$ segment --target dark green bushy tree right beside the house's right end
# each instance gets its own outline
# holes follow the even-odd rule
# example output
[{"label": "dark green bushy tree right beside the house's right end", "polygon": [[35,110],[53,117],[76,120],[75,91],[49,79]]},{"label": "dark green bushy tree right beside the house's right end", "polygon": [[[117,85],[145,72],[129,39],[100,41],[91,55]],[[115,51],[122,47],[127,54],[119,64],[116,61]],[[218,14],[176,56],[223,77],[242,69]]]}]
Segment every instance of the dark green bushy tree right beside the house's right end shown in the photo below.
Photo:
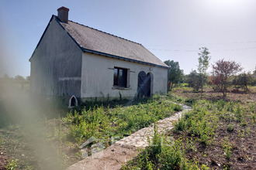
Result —
[{"label": "dark green bushy tree right beside the house's right end", "polygon": [[183,73],[183,70],[179,68],[178,62],[175,62],[174,60],[169,59],[167,61],[164,61],[164,63],[170,66],[168,70],[169,72],[168,80],[171,83],[171,86],[169,87],[169,90],[171,91],[174,84],[180,83],[180,81],[184,76],[184,73]]}]

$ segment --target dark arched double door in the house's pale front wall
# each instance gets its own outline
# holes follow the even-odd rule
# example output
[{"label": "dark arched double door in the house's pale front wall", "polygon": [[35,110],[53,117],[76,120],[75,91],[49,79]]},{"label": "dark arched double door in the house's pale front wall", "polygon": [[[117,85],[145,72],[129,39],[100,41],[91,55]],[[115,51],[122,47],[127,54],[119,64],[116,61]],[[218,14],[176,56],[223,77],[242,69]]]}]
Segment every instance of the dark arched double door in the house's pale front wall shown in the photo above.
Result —
[{"label": "dark arched double door in the house's pale front wall", "polygon": [[138,75],[138,90],[137,97],[150,97],[150,88],[151,87],[151,76],[150,73],[146,73],[144,71],[140,71]]}]

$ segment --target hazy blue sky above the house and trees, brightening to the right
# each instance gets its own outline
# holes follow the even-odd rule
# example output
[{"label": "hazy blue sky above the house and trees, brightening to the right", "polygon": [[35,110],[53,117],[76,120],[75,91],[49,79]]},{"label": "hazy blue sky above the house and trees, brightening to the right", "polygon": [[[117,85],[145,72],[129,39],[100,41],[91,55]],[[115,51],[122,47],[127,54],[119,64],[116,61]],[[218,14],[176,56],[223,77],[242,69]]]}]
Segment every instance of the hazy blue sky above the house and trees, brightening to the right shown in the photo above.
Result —
[{"label": "hazy blue sky above the house and trees, brightening to the right", "polygon": [[29,58],[61,6],[70,20],[139,42],[185,73],[197,68],[202,46],[211,63],[256,66],[255,0],[0,0],[0,76],[29,76]]}]

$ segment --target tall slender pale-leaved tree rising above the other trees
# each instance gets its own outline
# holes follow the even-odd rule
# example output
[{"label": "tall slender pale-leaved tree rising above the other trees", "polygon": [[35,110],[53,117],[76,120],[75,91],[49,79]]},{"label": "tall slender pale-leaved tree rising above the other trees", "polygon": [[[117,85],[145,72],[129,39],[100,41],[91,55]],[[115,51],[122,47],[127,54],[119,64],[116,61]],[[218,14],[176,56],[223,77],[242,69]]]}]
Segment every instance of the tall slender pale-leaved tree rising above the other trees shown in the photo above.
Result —
[{"label": "tall slender pale-leaved tree rising above the other trees", "polygon": [[200,88],[201,88],[201,97],[202,97],[202,89],[204,84],[206,83],[205,77],[206,77],[206,70],[209,68],[209,59],[211,57],[209,56],[209,49],[206,47],[199,48],[200,53],[199,53],[199,66],[198,66],[198,71],[199,71],[199,83],[200,83]]}]

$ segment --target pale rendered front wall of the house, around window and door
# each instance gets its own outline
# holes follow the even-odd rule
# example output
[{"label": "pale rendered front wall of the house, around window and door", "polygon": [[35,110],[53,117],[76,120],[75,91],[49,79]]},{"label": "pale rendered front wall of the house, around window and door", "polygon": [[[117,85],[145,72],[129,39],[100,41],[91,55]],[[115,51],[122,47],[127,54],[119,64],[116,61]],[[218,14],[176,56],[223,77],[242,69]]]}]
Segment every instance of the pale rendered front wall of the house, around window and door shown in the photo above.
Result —
[{"label": "pale rendered front wall of the house, around window and door", "polygon": [[[127,88],[113,87],[114,67],[128,69]],[[94,99],[95,97],[136,97],[138,88],[138,74],[144,71],[151,75],[151,93],[166,93],[168,70],[156,66],[99,56],[92,53],[82,55],[81,97]]]}]

